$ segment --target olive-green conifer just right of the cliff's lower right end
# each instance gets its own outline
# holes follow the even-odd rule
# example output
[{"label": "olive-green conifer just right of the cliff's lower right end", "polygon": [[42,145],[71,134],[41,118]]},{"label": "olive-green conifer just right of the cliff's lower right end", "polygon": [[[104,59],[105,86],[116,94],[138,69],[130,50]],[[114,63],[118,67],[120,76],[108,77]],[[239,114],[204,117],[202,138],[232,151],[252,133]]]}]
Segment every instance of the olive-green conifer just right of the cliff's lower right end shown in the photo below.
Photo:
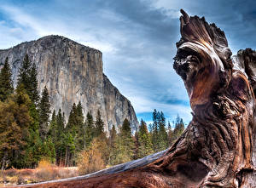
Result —
[{"label": "olive-green conifer just right of the cliff's lower right end", "polygon": [[138,157],[145,157],[154,152],[150,134],[148,133],[147,124],[143,121],[143,119],[141,120],[139,127],[138,143]]}]

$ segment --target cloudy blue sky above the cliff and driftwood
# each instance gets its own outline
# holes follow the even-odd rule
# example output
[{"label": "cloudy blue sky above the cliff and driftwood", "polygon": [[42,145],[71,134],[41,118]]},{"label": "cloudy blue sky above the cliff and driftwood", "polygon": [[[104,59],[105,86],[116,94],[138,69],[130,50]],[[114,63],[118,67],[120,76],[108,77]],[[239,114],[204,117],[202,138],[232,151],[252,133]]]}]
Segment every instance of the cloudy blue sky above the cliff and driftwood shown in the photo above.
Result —
[{"label": "cloudy blue sky above the cliff and driftwood", "polygon": [[150,122],[156,108],[167,121],[178,113],[189,123],[189,99],[172,68],[179,9],[216,23],[233,54],[255,49],[253,0],[6,0],[0,3],[0,48],[57,34],[100,49],[104,73],[131,100],[138,119]]}]

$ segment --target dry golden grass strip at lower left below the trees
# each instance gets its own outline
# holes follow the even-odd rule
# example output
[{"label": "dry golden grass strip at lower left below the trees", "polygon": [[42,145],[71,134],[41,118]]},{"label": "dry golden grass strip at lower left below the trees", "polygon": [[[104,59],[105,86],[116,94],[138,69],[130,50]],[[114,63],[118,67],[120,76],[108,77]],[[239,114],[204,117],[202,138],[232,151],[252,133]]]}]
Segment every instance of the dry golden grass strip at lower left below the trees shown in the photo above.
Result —
[{"label": "dry golden grass strip at lower left below the trees", "polygon": [[0,187],[8,185],[31,184],[51,179],[64,179],[79,175],[78,168],[57,167],[47,160],[38,163],[38,168],[11,168],[0,172]]}]

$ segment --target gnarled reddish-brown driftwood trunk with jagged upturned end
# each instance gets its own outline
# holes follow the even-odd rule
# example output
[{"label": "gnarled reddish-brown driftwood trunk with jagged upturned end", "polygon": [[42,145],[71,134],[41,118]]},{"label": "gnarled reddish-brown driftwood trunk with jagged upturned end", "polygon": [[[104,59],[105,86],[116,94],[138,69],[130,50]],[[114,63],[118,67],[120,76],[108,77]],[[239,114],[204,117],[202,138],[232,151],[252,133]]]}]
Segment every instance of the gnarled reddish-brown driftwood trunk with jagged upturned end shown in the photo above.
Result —
[{"label": "gnarled reddish-brown driftwood trunk with jagged upturned end", "polygon": [[224,31],[181,13],[173,67],[193,119],[176,143],[95,174],[26,187],[256,187],[256,53],[231,58]]}]

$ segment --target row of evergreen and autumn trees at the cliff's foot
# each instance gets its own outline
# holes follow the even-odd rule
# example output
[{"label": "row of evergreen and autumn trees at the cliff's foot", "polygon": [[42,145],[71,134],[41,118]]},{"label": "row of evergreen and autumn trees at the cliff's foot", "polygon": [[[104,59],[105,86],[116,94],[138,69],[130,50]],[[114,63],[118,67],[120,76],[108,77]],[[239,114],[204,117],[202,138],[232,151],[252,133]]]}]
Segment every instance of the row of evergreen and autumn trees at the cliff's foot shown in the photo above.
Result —
[{"label": "row of evergreen and autumn trees at the cliff's foot", "polygon": [[60,166],[79,166],[81,174],[165,150],[184,129],[176,118],[174,129],[162,111],[153,111],[153,123],[141,120],[135,134],[125,119],[119,127],[104,130],[101,111],[96,117],[73,104],[68,121],[65,114],[50,111],[46,87],[38,92],[38,71],[26,54],[14,88],[8,58],[0,71],[0,158],[1,168],[35,168],[47,158]]}]

